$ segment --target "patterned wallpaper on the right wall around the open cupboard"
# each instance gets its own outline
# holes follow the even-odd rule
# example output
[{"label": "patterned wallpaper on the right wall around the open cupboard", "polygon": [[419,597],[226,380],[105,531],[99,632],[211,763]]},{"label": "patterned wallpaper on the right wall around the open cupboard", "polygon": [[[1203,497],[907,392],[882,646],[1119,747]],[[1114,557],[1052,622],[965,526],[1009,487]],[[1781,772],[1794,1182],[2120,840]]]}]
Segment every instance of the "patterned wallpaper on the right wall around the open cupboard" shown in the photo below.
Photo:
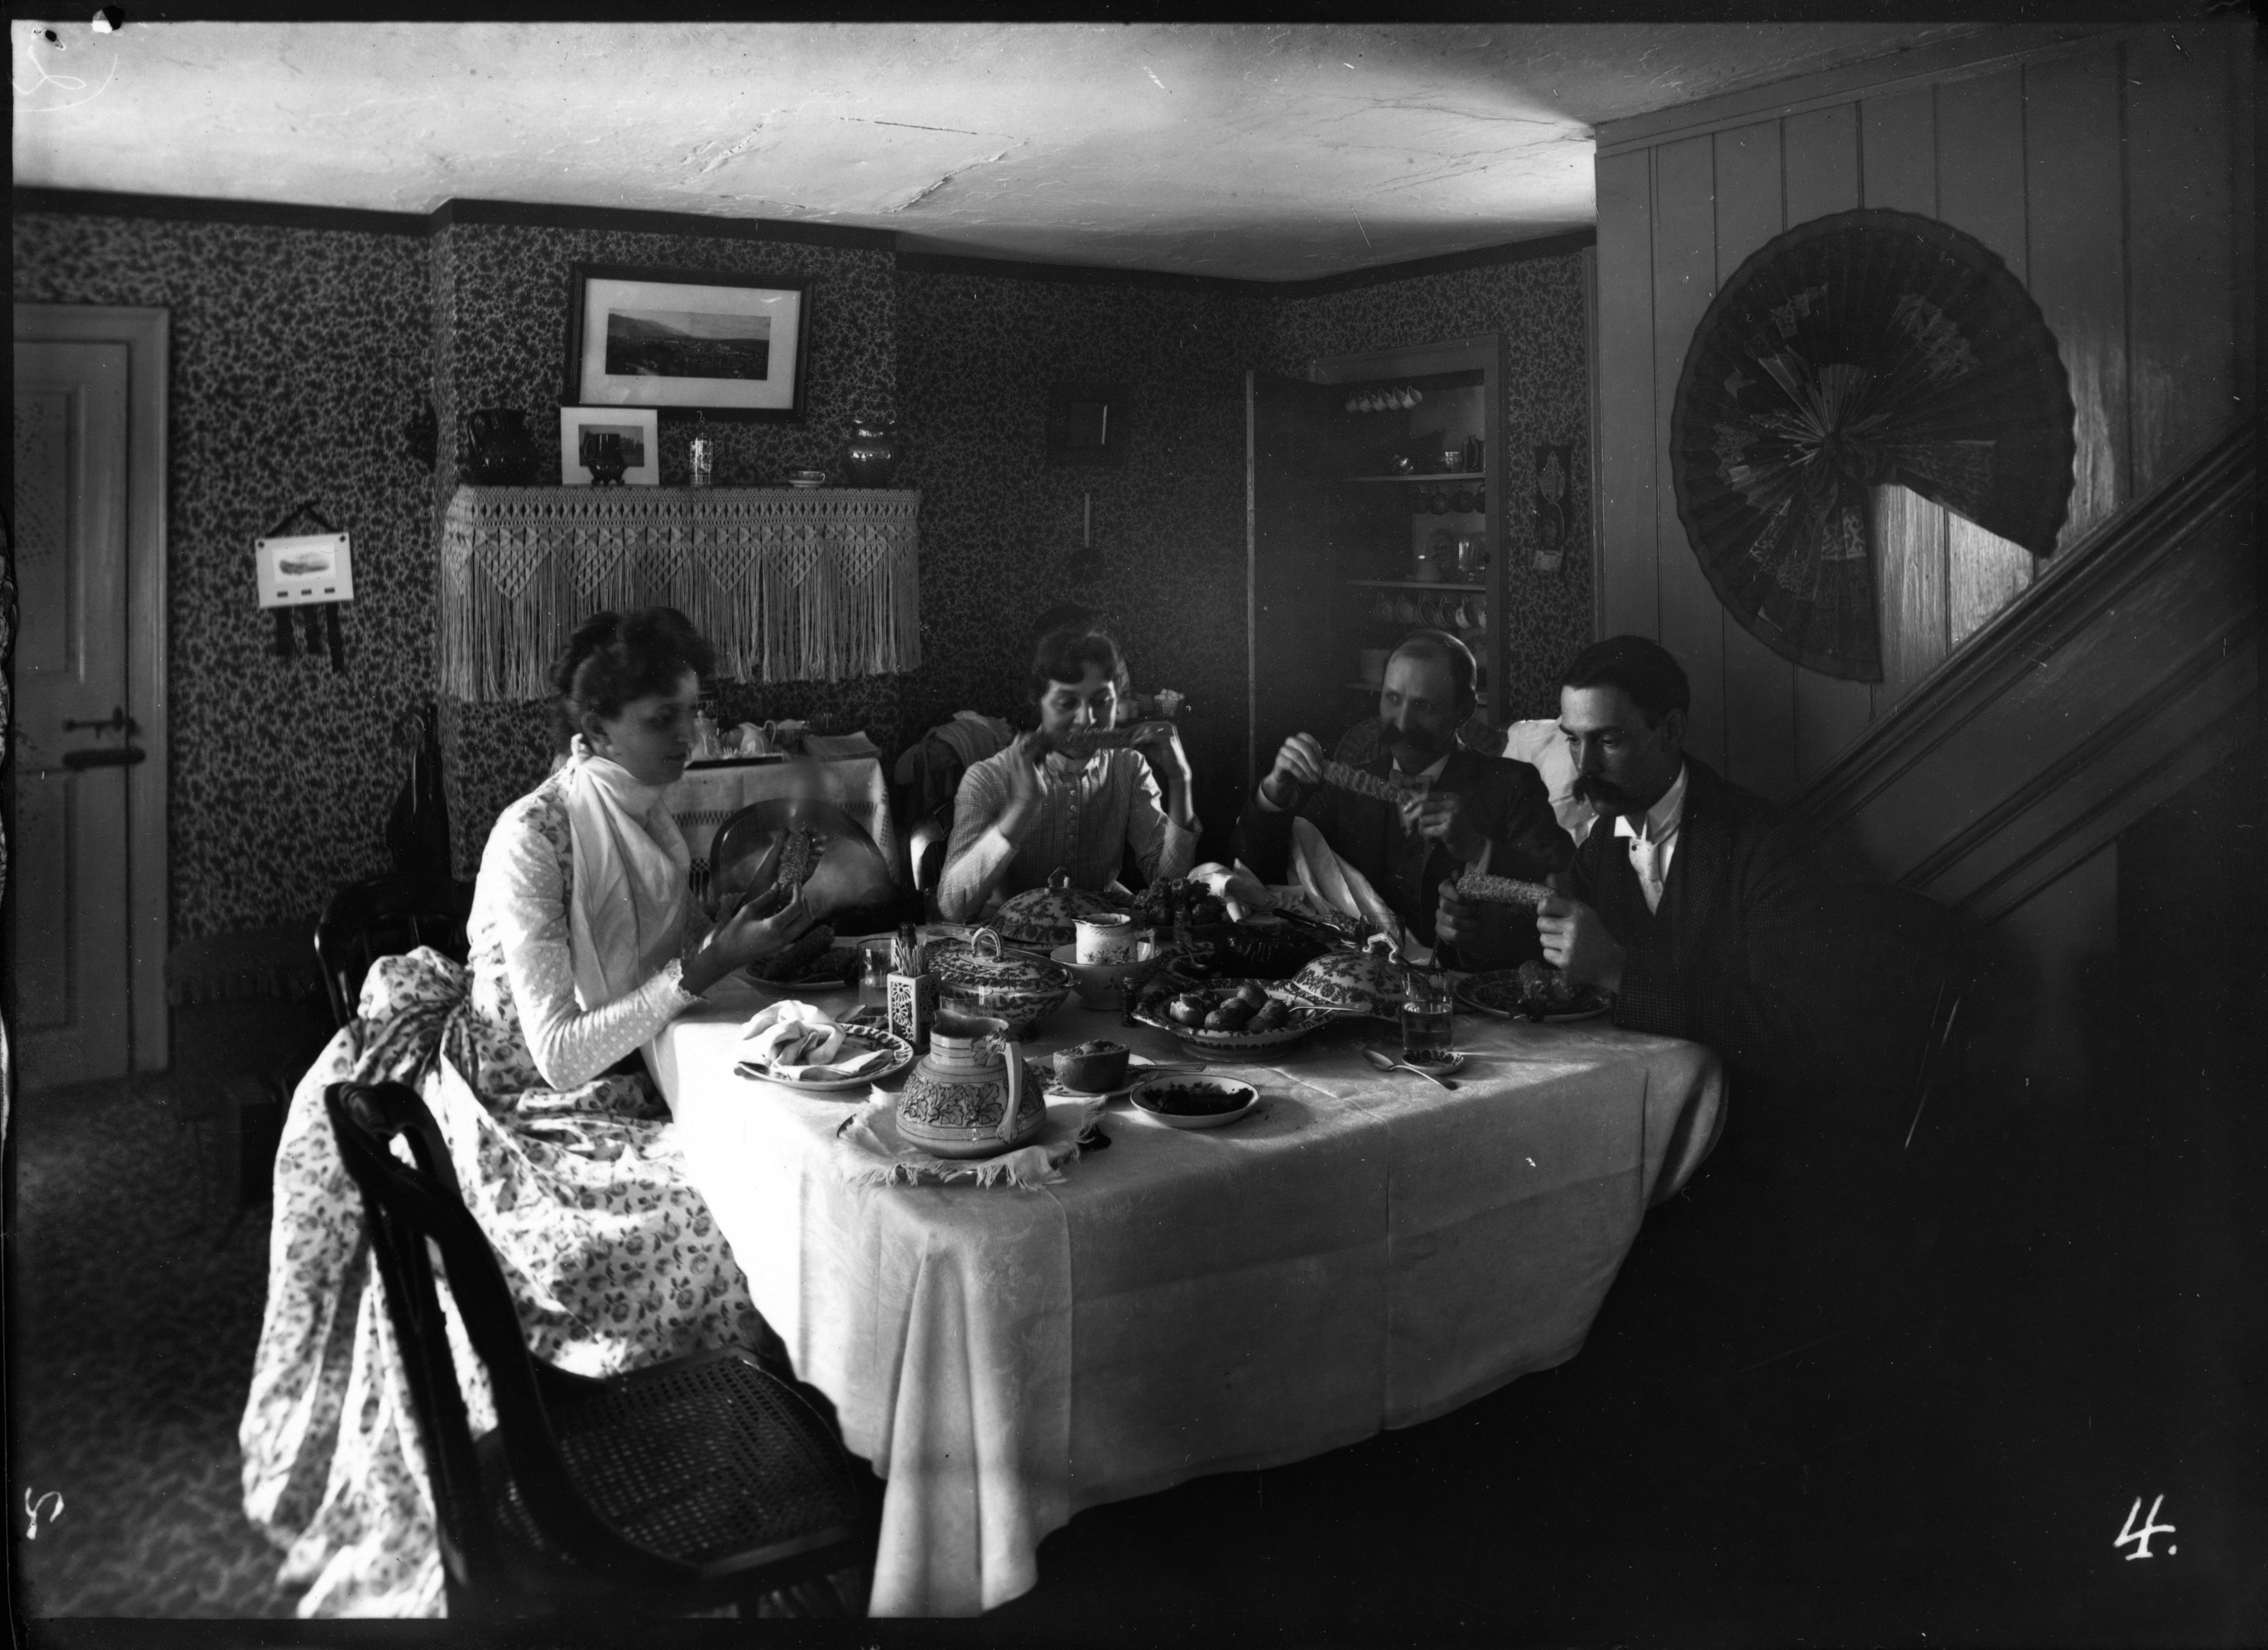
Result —
[{"label": "patterned wallpaper on the right wall around the open cupboard", "polygon": [[[1592,639],[1590,360],[1583,256],[1420,274],[1406,281],[1270,299],[1263,365],[1304,374],[1313,356],[1397,349],[1470,333],[1504,333],[1506,474],[1513,480],[1506,569],[1513,607],[1513,716],[1558,714],[1558,671]],[[1535,446],[1574,444],[1572,528],[1556,573],[1535,567]]]}]

